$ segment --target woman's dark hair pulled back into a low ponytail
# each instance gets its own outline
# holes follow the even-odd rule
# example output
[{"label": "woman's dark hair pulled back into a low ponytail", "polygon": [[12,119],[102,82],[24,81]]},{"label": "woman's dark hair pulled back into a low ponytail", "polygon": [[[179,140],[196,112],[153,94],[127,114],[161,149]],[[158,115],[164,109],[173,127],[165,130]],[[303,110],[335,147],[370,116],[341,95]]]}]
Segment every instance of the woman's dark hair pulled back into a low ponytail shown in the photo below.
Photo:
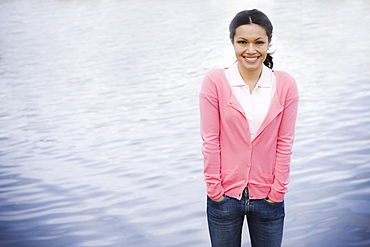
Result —
[{"label": "woman's dark hair pulled back into a low ponytail", "polygon": [[[241,25],[246,24],[257,24],[263,27],[266,30],[267,37],[269,42],[271,42],[272,38],[272,23],[269,18],[261,11],[257,9],[252,10],[243,10],[240,11],[234,19],[230,22],[229,32],[230,32],[230,39],[234,42],[234,36],[236,29]],[[274,63],[272,62],[272,53],[267,53],[266,60],[263,62],[268,68],[272,69]]]}]

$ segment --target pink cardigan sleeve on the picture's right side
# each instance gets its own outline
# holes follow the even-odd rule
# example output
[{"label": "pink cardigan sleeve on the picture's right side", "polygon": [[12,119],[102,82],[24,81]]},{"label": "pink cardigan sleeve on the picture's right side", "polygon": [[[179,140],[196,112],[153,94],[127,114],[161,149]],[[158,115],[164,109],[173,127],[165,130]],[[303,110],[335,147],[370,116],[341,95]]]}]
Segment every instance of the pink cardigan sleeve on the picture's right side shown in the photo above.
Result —
[{"label": "pink cardigan sleeve on the picture's right side", "polygon": [[288,77],[285,83],[289,83],[287,89],[284,110],[280,127],[278,130],[277,146],[276,146],[276,160],[274,171],[274,183],[268,195],[269,199],[275,202],[284,200],[284,195],[287,192],[287,184],[290,176],[290,159],[292,154],[292,147],[294,141],[295,123],[298,111],[298,89],[293,77]]}]

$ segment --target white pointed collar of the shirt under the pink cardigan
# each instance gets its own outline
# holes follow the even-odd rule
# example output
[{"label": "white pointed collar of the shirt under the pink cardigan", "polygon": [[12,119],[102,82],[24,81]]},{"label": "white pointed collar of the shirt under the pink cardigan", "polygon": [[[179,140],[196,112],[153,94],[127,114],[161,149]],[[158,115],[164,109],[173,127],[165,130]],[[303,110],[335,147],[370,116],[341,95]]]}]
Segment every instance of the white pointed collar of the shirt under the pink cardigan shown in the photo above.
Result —
[{"label": "white pointed collar of the shirt under the pink cardigan", "polygon": [[[238,62],[234,63],[229,68],[230,83],[233,87],[245,86],[245,82],[239,73]],[[257,82],[256,87],[269,88],[271,87],[273,72],[267,68],[264,64],[262,65],[262,74]]]}]

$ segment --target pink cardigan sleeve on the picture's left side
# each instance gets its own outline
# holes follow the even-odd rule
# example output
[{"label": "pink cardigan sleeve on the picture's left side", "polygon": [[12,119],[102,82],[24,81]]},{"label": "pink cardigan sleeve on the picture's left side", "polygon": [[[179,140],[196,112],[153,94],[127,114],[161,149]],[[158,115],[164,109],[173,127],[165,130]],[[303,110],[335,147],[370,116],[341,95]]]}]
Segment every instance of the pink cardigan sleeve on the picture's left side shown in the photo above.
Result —
[{"label": "pink cardigan sleeve on the picture's left side", "polygon": [[211,199],[224,194],[220,164],[220,113],[217,86],[210,72],[204,77],[199,97],[200,132],[203,140],[204,179]]}]

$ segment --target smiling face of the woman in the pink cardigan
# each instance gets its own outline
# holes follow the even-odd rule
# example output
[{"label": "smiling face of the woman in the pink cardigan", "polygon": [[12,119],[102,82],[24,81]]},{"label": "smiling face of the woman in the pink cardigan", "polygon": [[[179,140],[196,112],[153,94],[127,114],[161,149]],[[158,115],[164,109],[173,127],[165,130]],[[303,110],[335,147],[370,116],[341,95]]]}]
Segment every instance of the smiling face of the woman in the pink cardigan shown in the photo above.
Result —
[{"label": "smiling face of the woman in the pink cardigan", "polygon": [[266,30],[257,24],[236,28],[233,46],[241,73],[262,70],[270,42]]}]

